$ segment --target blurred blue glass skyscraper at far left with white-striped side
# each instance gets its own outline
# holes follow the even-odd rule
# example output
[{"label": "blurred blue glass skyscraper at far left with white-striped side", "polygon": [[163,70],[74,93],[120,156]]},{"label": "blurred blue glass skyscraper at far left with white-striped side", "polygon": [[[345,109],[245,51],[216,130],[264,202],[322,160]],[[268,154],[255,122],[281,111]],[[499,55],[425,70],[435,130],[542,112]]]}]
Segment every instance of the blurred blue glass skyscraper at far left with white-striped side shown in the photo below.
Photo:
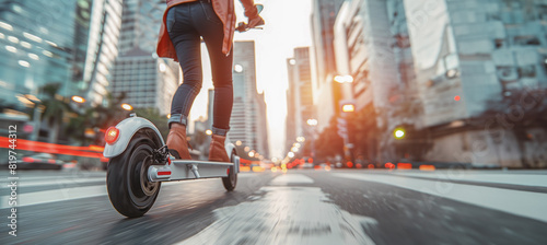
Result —
[{"label": "blurred blue glass skyscraper at far left with white-striped side", "polygon": [[[27,118],[33,114],[37,124],[42,100],[70,103],[79,95],[90,104],[103,103],[117,56],[121,0],[1,0],[0,4],[2,109]],[[48,86],[46,96],[44,89],[53,84],[58,89]],[[67,115],[35,125],[32,138],[47,135],[56,141]]]}]

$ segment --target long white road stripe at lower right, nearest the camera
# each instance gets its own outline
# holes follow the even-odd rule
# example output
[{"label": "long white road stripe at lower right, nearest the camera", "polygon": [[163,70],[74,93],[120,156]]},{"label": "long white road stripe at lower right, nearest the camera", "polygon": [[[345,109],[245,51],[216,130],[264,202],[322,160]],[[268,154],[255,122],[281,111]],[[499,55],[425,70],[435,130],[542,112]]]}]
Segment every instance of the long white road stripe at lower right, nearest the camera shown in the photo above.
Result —
[{"label": "long white road stripe at lower right, nearest the camera", "polygon": [[[375,182],[547,222],[547,194],[373,174],[334,176]],[[426,196],[423,198],[427,198]]]}]

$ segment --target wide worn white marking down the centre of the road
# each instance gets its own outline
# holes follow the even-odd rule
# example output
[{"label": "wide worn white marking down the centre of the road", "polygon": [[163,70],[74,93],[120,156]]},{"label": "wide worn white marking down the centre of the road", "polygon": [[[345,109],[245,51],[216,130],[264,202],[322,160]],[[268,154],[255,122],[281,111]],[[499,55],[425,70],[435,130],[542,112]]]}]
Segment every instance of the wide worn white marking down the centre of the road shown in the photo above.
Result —
[{"label": "wide worn white marking down the centre of the road", "polygon": [[[272,184],[310,183],[304,175],[291,175]],[[363,226],[377,221],[341,210],[321,188],[267,186],[257,194],[214,210],[212,224],[178,244],[374,244]]]}]

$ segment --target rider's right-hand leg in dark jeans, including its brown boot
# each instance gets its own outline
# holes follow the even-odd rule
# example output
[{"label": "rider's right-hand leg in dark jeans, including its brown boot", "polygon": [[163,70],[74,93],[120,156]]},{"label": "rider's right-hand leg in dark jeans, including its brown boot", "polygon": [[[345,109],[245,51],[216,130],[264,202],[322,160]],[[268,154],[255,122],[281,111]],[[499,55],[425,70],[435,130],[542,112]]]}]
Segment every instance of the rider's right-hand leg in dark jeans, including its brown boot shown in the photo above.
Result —
[{"label": "rider's right-hand leg in dark jeans, including its brown boot", "polygon": [[196,15],[199,34],[203,37],[211,59],[212,83],[214,85],[212,140],[209,161],[230,162],[224,150],[224,141],[230,130],[230,116],[233,105],[232,63],[233,52],[222,54],[224,30],[210,3],[200,2],[202,15]]}]

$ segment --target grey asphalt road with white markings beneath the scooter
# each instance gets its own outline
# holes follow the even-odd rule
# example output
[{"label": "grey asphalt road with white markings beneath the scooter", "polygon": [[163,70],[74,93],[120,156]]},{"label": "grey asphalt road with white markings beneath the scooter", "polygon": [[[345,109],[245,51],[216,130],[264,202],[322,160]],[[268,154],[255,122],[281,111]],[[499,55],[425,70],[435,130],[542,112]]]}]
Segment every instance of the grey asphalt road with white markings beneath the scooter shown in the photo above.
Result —
[{"label": "grey asphalt road with white markings beneath the scooter", "polygon": [[18,236],[0,244],[547,244],[547,173],[241,173],[164,184],[142,218],[114,210],[101,172],[19,172]]}]

